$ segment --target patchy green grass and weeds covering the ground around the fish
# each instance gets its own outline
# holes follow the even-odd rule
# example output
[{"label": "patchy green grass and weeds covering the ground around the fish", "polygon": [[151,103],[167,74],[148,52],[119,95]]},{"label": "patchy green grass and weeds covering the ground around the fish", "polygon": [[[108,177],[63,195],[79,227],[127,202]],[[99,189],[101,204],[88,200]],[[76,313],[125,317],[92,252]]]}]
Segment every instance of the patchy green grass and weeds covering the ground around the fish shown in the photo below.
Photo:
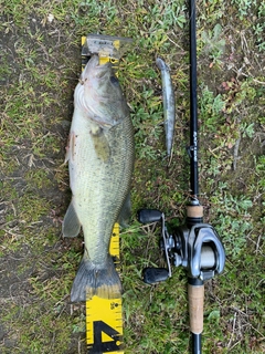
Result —
[{"label": "patchy green grass and weeds covering the ground around the fish", "polygon": [[[198,0],[200,199],[226,250],[205,285],[204,353],[264,353],[264,1]],[[189,35],[183,0],[0,1],[0,352],[85,353],[84,305],[70,304],[82,239],[62,240],[64,160],[81,71],[81,35],[134,39],[119,80],[131,107],[136,162],[131,226],[121,232],[126,353],[189,353],[187,273],[148,287],[162,267],[158,230],[138,208],[181,225],[189,197]],[[177,113],[167,167],[161,55]]]}]

